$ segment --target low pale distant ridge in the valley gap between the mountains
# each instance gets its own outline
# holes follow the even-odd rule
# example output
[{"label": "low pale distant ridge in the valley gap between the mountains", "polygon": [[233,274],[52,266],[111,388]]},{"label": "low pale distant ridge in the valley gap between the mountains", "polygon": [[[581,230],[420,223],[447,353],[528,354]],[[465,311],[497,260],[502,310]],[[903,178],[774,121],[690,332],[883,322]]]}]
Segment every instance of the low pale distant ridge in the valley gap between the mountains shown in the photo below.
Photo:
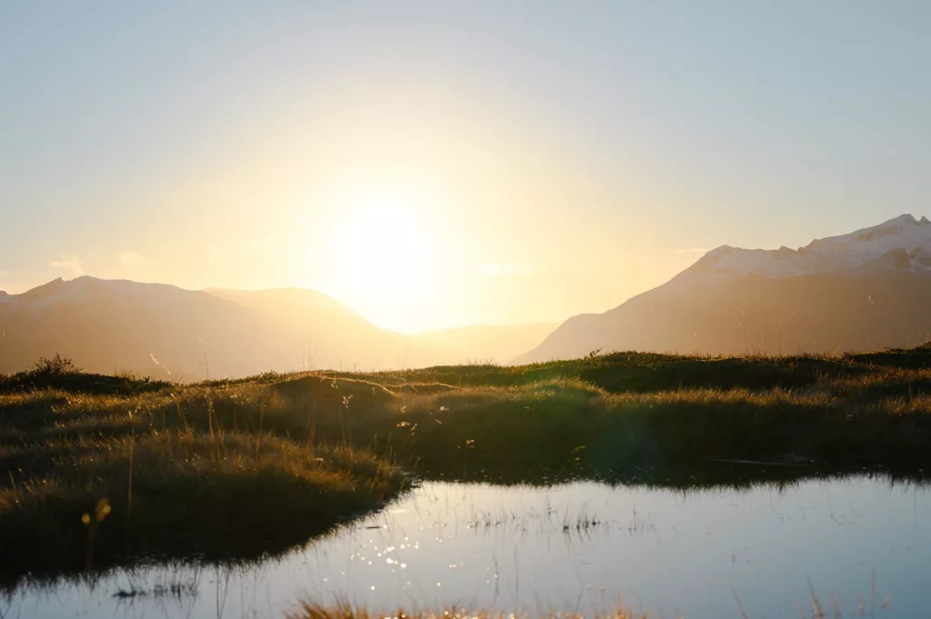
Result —
[{"label": "low pale distant ridge in the valley gap between the mountains", "polygon": [[543,342],[558,325],[548,322],[518,325],[474,325],[427,331],[417,338],[439,344],[454,363],[491,362],[506,364]]}]

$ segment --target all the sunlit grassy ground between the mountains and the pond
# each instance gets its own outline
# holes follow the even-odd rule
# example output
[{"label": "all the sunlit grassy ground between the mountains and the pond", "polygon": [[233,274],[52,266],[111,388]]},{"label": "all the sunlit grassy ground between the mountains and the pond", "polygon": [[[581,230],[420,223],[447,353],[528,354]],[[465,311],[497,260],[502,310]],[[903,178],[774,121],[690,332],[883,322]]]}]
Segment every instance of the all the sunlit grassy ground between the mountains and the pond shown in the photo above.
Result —
[{"label": "all the sunlit grassy ground between the mountains and the pond", "polygon": [[0,578],[283,552],[395,496],[405,477],[390,463],[421,478],[686,488],[920,476],[929,448],[927,347],[190,385],[52,364],[0,377],[0,547],[17,559]]}]

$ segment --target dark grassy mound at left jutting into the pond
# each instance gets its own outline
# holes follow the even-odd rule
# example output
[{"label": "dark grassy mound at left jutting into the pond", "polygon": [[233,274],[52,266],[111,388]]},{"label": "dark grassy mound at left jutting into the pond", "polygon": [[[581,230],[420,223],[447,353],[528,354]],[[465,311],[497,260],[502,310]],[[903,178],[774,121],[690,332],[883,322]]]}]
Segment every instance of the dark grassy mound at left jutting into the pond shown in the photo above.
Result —
[{"label": "dark grassy mound at left jutting into the pond", "polygon": [[368,451],[156,420],[144,401],[0,397],[0,581],[144,558],[275,555],[404,485]]}]

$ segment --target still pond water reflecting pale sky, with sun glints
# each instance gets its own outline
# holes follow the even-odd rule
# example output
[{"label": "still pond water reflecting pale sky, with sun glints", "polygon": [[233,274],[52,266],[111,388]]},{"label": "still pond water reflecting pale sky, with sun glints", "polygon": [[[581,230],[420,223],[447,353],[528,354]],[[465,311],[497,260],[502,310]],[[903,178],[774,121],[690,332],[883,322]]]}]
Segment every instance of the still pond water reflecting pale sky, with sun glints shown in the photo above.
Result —
[{"label": "still pond water reflecting pale sky, with sun glints", "polygon": [[[751,619],[931,609],[931,498],[886,478],[675,491],[428,482],[379,514],[245,568],[153,566],[20,585],[2,617],[281,617],[300,599],[380,609],[578,610]],[[159,592],[159,585],[183,585]],[[136,589],[142,595],[115,597]]]}]

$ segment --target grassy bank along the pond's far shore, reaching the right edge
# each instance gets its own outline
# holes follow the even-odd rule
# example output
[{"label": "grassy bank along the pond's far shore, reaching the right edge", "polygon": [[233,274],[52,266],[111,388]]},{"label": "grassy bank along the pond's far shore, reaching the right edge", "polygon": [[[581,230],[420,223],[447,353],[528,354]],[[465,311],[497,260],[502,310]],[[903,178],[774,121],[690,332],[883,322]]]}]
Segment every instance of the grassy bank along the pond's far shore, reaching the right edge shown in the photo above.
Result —
[{"label": "grassy bank along the pond's far shore, reaching the right edge", "polygon": [[210,388],[270,397],[265,423],[279,433],[401,454],[422,472],[456,477],[499,463],[604,475],[682,460],[912,471],[931,460],[931,347],[845,357],[619,353]]}]

